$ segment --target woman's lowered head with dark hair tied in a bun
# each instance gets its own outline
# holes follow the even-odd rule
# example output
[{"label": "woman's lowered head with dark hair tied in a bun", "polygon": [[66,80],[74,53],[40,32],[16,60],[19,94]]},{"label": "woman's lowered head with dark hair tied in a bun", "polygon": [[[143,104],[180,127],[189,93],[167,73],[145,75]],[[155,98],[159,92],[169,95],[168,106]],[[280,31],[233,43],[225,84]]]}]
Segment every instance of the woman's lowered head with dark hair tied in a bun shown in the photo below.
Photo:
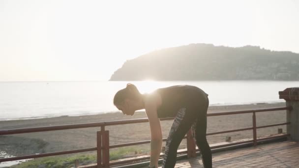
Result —
[{"label": "woman's lowered head with dark hair tied in a bun", "polygon": [[136,110],[139,110],[141,97],[134,84],[127,84],[124,89],[115,94],[113,103],[123,114],[133,115]]}]

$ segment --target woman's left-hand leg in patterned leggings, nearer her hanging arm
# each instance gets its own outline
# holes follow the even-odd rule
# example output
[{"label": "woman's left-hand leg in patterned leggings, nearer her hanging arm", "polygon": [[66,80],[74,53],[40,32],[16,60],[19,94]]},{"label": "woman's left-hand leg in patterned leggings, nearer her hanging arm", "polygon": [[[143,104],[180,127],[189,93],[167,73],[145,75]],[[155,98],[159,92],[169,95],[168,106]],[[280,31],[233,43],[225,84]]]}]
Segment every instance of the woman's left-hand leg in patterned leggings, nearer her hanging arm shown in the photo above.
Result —
[{"label": "woman's left-hand leg in patterned leggings, nearer her hanging arm", "polygon": [[166,141],[165,155],[162,168],[174,168],[177,162],[177,150],[181,140],[184,138],[192,123],[195,122],[191,112],[186,112],[186,108],[182,108],[177,113],[171,126],[169,136]]}]

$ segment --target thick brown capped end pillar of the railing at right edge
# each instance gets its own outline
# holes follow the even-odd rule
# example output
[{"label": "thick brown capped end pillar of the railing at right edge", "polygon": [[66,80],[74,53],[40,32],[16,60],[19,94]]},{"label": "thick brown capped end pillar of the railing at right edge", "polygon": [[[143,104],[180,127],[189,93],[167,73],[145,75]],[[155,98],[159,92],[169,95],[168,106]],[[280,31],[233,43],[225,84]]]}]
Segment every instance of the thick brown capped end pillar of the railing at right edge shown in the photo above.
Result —
[{"label": "thick brown capped end pillar of the railing at right edge", "polygon": [[287,134],[290,134],[290,140],[299,142],[299,87],[286,88],[284,91],[279,91],[279,99],[286,101],[287,107],[292,109],[287,110]]}]

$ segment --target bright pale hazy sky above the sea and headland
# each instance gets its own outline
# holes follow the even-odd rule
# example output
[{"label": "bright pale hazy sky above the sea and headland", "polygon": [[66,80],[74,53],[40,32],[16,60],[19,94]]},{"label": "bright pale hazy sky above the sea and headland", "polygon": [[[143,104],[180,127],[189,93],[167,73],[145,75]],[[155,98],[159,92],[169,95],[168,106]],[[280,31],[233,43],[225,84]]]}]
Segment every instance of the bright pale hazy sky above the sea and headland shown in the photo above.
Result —
[{"label": "bright pale hazy sky above the sea and headland", "polygon": [[151,51],[299,53],[298,0],[0,0],[0,81],[107,81]]}]

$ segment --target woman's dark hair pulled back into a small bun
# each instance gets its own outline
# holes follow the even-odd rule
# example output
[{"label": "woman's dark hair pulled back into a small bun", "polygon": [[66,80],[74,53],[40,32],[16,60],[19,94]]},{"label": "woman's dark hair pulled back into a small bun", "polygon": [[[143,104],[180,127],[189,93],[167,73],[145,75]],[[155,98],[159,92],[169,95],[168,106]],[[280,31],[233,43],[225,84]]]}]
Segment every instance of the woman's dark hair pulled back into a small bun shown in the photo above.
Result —
[{"label": "woman's dark hair pulled back into a small bun", "polygon": [[134,84],[127,84],[126,88],[119,90],[113,99],[114,105],[120,105],[124,99],[138,100],[140,98],[140,92]]}]

